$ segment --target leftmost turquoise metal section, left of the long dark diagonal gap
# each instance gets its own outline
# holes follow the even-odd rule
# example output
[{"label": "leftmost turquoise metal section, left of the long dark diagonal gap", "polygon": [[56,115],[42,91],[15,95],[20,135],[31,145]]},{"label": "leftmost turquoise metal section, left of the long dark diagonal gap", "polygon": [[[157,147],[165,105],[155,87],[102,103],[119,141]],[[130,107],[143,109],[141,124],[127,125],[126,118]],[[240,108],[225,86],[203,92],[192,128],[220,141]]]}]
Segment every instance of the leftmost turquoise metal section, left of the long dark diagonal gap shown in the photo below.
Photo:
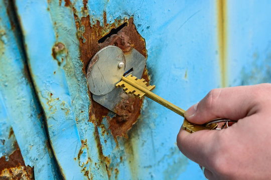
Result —
[{"label": "leftmost turquoise metal section, left of the long dark diagonal gap", "polygon": [[[17,140],[25,164],[35,167],[36,179],[58,179],[56,164],[47,146],[44,116],[25,71],[26,63],[3,0],[0,0],[0,9],[0,138],[2,142],[5,140],[0,144],[0,153],[8,157],[16,149]],[[15,136],[9,137],[11,128]]]}]

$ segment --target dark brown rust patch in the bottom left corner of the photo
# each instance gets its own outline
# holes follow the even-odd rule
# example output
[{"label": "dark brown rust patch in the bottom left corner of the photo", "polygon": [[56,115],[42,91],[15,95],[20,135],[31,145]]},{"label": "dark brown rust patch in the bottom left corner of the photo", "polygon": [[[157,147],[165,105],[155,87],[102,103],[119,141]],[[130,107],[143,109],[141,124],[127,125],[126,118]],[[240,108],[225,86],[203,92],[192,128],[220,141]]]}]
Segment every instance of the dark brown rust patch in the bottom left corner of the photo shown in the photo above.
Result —
[{"label": "dark brown rust patch in the bottom left corner of the photo", "polygon": [[9,155],[9,160],[0,158],[0,179],[34,179],[33,167],[26,166],[20,148],[16,143],[16,150]]}]

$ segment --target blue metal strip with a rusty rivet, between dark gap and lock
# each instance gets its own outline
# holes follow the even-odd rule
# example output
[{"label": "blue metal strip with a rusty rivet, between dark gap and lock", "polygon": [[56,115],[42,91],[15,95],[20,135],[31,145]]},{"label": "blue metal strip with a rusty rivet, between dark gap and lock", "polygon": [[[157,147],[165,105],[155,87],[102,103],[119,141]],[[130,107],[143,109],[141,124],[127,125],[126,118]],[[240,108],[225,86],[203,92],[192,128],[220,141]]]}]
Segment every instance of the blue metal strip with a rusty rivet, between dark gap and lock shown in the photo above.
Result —
[{"label": "blue metal strip with a rusty rivet, between dark gap and lock", "polygon": [[59,6],[53,2],[48,4],[46,0],[16,1],[28,65],[62,176],[65,179],[105,178],[107,174],[103,173],[104,166],[98,158],[93,124],[88,122],[87,83],[82,79],[71,8],[56,5]]}]

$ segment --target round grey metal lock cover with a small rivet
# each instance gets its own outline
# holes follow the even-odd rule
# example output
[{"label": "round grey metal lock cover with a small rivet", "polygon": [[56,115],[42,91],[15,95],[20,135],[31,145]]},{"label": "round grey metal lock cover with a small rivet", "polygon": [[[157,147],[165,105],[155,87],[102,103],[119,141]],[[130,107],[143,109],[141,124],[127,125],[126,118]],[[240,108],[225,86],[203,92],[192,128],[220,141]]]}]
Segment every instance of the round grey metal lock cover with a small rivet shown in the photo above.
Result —
[{"label": "round grey metal lock cover with a small rivet", "polygon": [[115,88],[125,69],[123,51],[114,45],[100,49],[87,67],[89,90],[95,95],[104,95]]}]

